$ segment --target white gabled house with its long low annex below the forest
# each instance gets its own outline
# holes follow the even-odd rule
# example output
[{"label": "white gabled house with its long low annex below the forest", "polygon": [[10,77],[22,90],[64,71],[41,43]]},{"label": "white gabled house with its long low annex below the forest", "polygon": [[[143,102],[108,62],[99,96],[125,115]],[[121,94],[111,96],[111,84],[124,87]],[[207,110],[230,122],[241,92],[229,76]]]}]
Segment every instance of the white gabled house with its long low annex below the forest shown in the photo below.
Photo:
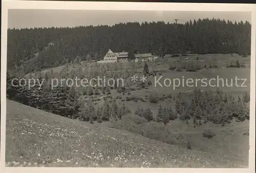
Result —
[{"label": "white gabled house with its long low annex below the forest", "polygon": [[[152,56],[151,53],[148,54],[134,54],[134,61],[153,61],[156,57]],[[111,49],[106,53],[101,63],[113,63],[113,62],[128,62],[128,52],[113,52]]]}]

